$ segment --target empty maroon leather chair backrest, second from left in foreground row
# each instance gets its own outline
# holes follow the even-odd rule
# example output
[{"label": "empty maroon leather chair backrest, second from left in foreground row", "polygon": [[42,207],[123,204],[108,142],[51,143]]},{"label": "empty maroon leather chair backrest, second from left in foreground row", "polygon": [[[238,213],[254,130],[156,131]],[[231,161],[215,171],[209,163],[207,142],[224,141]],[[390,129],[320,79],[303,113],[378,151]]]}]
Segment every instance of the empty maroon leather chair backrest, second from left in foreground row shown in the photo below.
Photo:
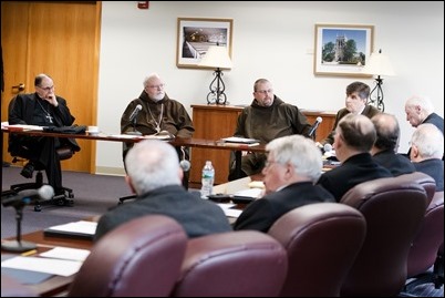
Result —
[{"label": "empty maroon leather chair backrest, second from left in foreground row", "polygon": [[188,242],[173,297],[277,296],[286,278],[284,248],[257,230],[236,230]]}]

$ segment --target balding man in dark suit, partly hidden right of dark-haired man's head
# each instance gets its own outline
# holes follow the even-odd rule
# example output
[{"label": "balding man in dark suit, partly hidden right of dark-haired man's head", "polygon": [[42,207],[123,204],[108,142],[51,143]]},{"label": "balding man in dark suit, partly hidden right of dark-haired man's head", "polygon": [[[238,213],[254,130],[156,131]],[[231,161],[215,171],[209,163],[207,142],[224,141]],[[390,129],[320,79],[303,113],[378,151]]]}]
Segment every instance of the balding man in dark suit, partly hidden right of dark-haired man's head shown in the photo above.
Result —
[{"label": "balding man in dark suit, partly hidden right of dark-haired man's head", "polygon": [[379,113],[371,121],[377,134],[371,148],[372,158],[390,169],[394,176],[415,172],[411,161],[396,152],[401,133],[397,119],[394,115]]}]

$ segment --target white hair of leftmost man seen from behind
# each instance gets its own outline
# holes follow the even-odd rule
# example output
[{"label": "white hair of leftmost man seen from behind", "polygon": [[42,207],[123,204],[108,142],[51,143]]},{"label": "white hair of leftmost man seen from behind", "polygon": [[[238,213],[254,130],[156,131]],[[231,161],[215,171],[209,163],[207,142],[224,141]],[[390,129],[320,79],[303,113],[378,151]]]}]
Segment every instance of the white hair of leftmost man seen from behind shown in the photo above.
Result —
[{"label": "white hair of leftmost man seen from behind", "polygon": [[136,143],[125,156],[125,166],[137,195],[182,184],[178,154],[163,141],[144,140]]}]

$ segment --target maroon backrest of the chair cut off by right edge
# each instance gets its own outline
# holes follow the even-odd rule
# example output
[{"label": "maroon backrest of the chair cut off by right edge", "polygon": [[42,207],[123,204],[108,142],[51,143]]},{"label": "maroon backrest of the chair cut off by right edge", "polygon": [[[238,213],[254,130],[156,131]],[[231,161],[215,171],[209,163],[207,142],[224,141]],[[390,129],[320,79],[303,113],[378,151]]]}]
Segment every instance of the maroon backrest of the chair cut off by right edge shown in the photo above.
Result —
[{"label": "maroon backrest of the chair cut off by right edge", "polygon": [[444,243],[444,192],[437,192],[426,208],[407,259],[407,277],[425,273],[436,260]]}]

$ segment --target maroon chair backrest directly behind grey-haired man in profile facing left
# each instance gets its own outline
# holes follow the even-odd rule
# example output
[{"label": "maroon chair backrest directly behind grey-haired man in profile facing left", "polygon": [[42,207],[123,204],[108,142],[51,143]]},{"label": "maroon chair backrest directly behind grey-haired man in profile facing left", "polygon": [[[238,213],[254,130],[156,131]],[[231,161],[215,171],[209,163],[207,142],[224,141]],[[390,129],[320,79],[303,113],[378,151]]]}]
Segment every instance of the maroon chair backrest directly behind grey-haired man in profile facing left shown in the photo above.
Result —
[{"label": "maroon chair backrest directly behind grey-haired man in profile facing left", "polygon": [[366,234],[363,215],[339,203],[304,205],[269,229],[288,251],[280,296],[337,297]]}]

